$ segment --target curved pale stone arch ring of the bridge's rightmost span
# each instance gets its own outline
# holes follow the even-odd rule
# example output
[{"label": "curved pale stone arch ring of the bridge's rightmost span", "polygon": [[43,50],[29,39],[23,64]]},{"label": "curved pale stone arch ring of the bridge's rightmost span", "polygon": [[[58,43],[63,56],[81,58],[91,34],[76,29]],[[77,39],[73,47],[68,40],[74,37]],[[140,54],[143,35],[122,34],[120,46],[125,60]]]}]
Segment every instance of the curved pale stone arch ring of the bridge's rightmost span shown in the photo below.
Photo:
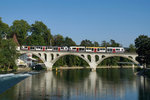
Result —
[{"label": "curved pale stone arch ring of the bridge's rightmost span", "polygon": [[139,62],[137,62],[136,60],[133,59],[132,56],[123,56],[123,55],[109,55],[109,56],[105,56],[102,59],[100,59],[97,64],[100,64],[103,60],[110,58],[110,57],[123,57],[123,58],[127,58],[129,60],[131,60],[132,62],[134,62],[135,64],[139,64]]}]

